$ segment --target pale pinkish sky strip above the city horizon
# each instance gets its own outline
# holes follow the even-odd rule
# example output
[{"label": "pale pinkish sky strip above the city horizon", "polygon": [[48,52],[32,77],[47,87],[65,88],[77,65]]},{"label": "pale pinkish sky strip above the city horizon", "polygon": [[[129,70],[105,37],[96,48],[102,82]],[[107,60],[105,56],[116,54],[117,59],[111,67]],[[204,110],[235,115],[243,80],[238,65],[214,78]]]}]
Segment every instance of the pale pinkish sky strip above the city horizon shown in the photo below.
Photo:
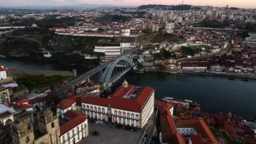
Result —
[{"label": "pale pinkish sky strip above the city horizon", "polygon": [[[147,5],[147,4],[163,4],[178,5],[182,0],[0,0],[0,7],[3,6],[63,6],[76,4],[107,4],[107,5]],[[184,4],[189,5],[211,5],[224,7],[239,8],[256,8],[256,0],[184,0]]]}]

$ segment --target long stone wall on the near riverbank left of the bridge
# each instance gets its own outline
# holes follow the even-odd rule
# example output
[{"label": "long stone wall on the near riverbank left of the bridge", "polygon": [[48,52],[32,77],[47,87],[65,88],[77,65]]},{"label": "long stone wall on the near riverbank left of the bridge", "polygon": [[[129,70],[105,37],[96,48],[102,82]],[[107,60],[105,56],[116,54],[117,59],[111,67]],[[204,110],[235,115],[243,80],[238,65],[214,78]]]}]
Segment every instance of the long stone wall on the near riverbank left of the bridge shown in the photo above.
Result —
[{"label": "long stone wall on the near riverbank left of the bridge", "polygon": [[[53,76],[53,75],[61,75],[61,76],[74,76],[74,71],[53,71],[53,70],[42,70],[42,71],[7,71],[8,76],[19,77],[23,75],[45,75],[45,76]],[[76,74],[75,74],[76,75]]]}]

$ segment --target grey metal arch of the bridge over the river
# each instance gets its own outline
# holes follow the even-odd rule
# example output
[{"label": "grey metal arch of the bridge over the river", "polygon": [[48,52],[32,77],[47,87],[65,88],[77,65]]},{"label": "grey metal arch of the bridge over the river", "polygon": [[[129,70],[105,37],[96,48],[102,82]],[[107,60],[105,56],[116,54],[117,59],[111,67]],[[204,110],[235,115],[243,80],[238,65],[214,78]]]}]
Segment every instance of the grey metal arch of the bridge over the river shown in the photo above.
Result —
[{"label": "grey metal arch of the bridge over the river", "polygon": [[112,64],[110,64],[107,67],[107,69],[104,71],[100,80],[101,83],[105,83],[105,84],[109,83],[112,72],[119,61],[126,61],[131,67],[133,67],[133,62],[127,56],[121,56],[120,58],[113,61]]}]

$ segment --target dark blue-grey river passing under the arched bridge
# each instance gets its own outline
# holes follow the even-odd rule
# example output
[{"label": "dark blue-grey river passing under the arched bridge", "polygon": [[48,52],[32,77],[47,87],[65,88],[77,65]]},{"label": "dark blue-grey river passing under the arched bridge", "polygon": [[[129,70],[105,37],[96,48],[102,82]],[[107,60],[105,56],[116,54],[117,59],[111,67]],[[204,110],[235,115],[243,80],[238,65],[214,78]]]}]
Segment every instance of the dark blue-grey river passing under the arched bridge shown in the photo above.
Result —
[{"label": "dark blue-grey river passing under the arched bridge", "polygon": [[[38,61],[0,58],[0,65],[21,70],[71,70],[55,64],[45,64]],[[87,71],[78,67],[77,73]],[[94,77],[96,79],[96,77]],[[201,105],[204,112],[233,112],[248,119],[256,115],[256,80],[244,82],[240,79],[227,80],[227,77],[200,77],[192,75],[172,75],[166,73],[128,73],[123,79],[128,83],[155,88],[155,98],[170,96],[179,99],[189,99]],[[117,82],[121,83],[122,80]]]}]

